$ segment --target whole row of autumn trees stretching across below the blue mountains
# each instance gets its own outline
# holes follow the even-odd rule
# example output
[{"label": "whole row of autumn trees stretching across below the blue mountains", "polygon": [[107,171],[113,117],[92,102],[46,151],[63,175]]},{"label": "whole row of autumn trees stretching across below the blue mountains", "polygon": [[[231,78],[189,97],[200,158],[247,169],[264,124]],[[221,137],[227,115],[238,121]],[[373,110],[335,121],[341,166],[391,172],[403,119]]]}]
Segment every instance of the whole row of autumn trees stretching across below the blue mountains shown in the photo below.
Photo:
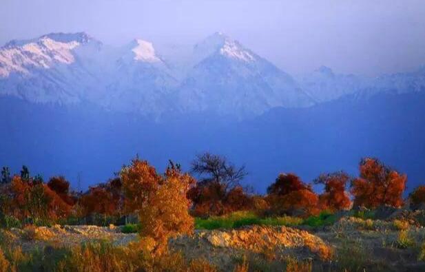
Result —
[{"label": "whole row of autumn trees stretching across below the blue mountains", "polygon": [[[14,227],[56,222],[124,224],[125,219],[136,217],[145,226],[161,224],[160,229],[184,229],[185,224],[193,224],[191,217],[234,211],[306,218],[321,211],[402,207],[406,201],[403,193],[407,176],[376,158],[363,158],[355,177],[338,171],[321,174],[307,183],[296,174],[282,173],[265,195],[242,187],[245,176],[245,167],[236,167],[225,157],[209,153],[196,156],[187,173],[170,161],[160,174],[147,160],[136,157],[115,178],[78,192],[63,176],[44,181],[41,176],[31,176],[28,167],[23,166],[21,173],[13,176],[8,167],[3,167],[0,220],[4,227]],[[315,192],[314,184],[323,185],[323,191]],[[412,206],[424,203],[425,187],[413,190],[408,201]],[[169,222],[169,218],[176,218],[176,212],[178,222]],[[156,233],[152,235],[159,235],[158,228],[153,229]]]}]

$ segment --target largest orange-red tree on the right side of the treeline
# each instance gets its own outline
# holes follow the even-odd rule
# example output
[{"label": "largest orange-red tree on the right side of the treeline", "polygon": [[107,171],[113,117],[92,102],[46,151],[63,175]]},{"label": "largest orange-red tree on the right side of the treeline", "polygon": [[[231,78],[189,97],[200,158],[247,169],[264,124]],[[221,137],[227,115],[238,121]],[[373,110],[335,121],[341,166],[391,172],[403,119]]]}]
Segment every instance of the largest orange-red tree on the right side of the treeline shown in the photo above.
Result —
[{"label": "largest orange-red tree on the right side of the treeline", "polygon": [[381,205],[401,207],[407,176],[375,158],[363,158],[360,176],[351,182],[354,207],[376,208]]}]

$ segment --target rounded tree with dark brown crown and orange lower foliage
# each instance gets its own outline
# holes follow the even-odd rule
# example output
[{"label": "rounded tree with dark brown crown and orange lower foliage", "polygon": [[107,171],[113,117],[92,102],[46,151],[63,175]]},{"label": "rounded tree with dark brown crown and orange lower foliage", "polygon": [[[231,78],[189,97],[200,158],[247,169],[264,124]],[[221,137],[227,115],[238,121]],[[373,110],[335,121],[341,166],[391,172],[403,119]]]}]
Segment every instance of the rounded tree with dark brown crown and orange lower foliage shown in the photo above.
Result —
[{"label": "rounded tree with dark brown crown and orange lower foliage", "polygon": [[296,174],[280,174],[267,193],[272,213],[309,216],[319,212],[318,195]]}]

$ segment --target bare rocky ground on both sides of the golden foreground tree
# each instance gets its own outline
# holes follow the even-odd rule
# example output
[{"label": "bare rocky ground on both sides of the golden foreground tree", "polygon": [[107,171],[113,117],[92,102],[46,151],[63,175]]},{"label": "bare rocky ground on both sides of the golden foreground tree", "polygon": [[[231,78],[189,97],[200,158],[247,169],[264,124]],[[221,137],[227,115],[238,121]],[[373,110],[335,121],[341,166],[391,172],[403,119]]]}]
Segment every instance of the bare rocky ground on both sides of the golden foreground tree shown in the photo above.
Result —
[{"label": "bare rocky ground on both sides of the golden foreground tree", "polygon": [[[342,217],[331,226],[309,229],[249,226],[203,230],[170,240],[169,248],[190,260],[208,260],[220,271],[231,271],[242,262],[249,264],[249,271],[284,271],[291,262],[306,264],[305,271],[343,271],[342,267],[347,271],[425,271],[425,229],[411,223],[406,217]],[[56,225],[2,232],[3,238],[24,251],[98,240],[125,245],[139,239],[137,233],[121,233],[120,227],[114,226]],[[300,270],[295,266],[292,271]]]}]

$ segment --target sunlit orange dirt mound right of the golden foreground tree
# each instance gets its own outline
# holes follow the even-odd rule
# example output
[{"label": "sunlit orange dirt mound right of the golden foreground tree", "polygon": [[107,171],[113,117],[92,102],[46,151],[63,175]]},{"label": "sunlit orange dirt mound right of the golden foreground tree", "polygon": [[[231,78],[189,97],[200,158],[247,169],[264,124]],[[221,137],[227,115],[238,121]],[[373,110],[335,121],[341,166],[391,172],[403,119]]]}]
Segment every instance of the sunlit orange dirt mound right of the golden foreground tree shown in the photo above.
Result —
[{"label": "sunlit orange dirt mound right of the golden foreground tree", "polygon": [[169,241],[169,248],[189,259],[209,260],[222,271],[231,271],[235,258],[256,260],[329,259],[331,248],[321,238],[290,227],[249,226],[233,230],[196,231]]}]

